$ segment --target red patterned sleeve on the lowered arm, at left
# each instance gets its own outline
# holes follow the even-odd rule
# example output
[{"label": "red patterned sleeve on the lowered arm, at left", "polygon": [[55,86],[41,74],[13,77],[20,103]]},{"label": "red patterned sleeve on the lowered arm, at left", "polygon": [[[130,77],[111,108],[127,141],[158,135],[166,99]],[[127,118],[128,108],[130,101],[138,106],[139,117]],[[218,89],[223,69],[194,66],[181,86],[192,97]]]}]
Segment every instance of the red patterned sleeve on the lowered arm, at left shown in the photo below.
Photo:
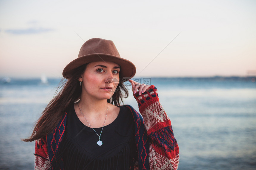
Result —
[{"label": "red patterned sleeve on the lowered arm, at left", "polygon": [[35,170],[49,169],[49,161],[46,137],[35,141]]}]

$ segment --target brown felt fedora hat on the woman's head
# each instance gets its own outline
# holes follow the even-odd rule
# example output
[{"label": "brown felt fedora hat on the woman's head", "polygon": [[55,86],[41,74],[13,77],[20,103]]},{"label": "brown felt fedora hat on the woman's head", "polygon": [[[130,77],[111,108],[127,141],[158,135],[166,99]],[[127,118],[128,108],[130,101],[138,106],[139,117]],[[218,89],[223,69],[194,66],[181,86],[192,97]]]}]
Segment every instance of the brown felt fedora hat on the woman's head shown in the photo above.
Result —
[{"label": "brown felt fedora hat on the woman's head", "polygon": [[[109,61],[120,65],[120,79],[128,80],[136,73],[135,65],[129,60],[120,57],[115,44],[111,40],[93,38],[86,41],[78,54],[77,59],[71,61],[63,70],[63,77],[69,79],[79,66],[95,61]],[[127,78],[124,80],[124,77]]]}]

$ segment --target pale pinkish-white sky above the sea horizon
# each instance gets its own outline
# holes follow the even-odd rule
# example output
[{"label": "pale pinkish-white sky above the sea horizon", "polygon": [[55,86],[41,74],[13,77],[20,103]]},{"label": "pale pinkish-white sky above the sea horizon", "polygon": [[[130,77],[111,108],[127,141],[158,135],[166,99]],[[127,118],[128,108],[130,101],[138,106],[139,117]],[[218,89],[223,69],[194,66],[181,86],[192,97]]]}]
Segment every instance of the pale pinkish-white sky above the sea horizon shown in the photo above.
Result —
[{"label": "pale pinkish-white sky above the sea horizon", "polygon": [[61,77],[91,38],[136,77],[256,75],[256,1],[0,0],[0,77]]}]

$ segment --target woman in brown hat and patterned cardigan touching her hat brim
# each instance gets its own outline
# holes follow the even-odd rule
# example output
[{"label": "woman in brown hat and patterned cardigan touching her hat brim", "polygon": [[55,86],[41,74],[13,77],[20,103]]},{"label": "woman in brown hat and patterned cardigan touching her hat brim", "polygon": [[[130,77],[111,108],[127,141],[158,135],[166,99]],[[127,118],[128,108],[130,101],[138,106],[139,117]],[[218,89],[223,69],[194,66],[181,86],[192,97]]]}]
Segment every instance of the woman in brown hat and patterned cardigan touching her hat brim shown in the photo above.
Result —
[{"label": "woman in brown hat and patterned cardigan touching her hat brim", "polygon": [[[112,41],[86,41],[63,70],[68,79],[63,89],[24,139],[36,140],[35,169],[177,169],[171,121],[157,89],[130,80],[135,72]],[[120,106],[128,96],[127,80],[141,114]]]}]

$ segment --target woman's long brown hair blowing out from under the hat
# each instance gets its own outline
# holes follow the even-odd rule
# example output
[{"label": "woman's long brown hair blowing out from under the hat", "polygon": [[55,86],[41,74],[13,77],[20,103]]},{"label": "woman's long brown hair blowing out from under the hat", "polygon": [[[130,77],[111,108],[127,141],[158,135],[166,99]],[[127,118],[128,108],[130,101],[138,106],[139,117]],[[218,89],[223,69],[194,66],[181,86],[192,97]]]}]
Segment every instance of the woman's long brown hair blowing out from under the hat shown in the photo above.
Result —
[{"label": "woman's long brown hair blowing out from under the hat", "polygon": [[[86,65],[87,64],[78,67],[69,80],[64,80],[63,78],[62,83],[57,88],[57,94],[49,102],[44,109],[42,116],[35,123],[31,136],[27,139],[22,139],[23,141],[32,142],[51,133],[65,112],[67,112],[68,109],[74,105],[74,102],[80,99],[82,88],[80,87],[78,78],[81,77],[82,73],[84,73]],[[123,103],[122,98],[127,98],[128,94],[129,93],[124,87],[120,77],[120,81],[115,93],[110,99],[107,100],[107,102],[120,106],[120,103]]]}]

